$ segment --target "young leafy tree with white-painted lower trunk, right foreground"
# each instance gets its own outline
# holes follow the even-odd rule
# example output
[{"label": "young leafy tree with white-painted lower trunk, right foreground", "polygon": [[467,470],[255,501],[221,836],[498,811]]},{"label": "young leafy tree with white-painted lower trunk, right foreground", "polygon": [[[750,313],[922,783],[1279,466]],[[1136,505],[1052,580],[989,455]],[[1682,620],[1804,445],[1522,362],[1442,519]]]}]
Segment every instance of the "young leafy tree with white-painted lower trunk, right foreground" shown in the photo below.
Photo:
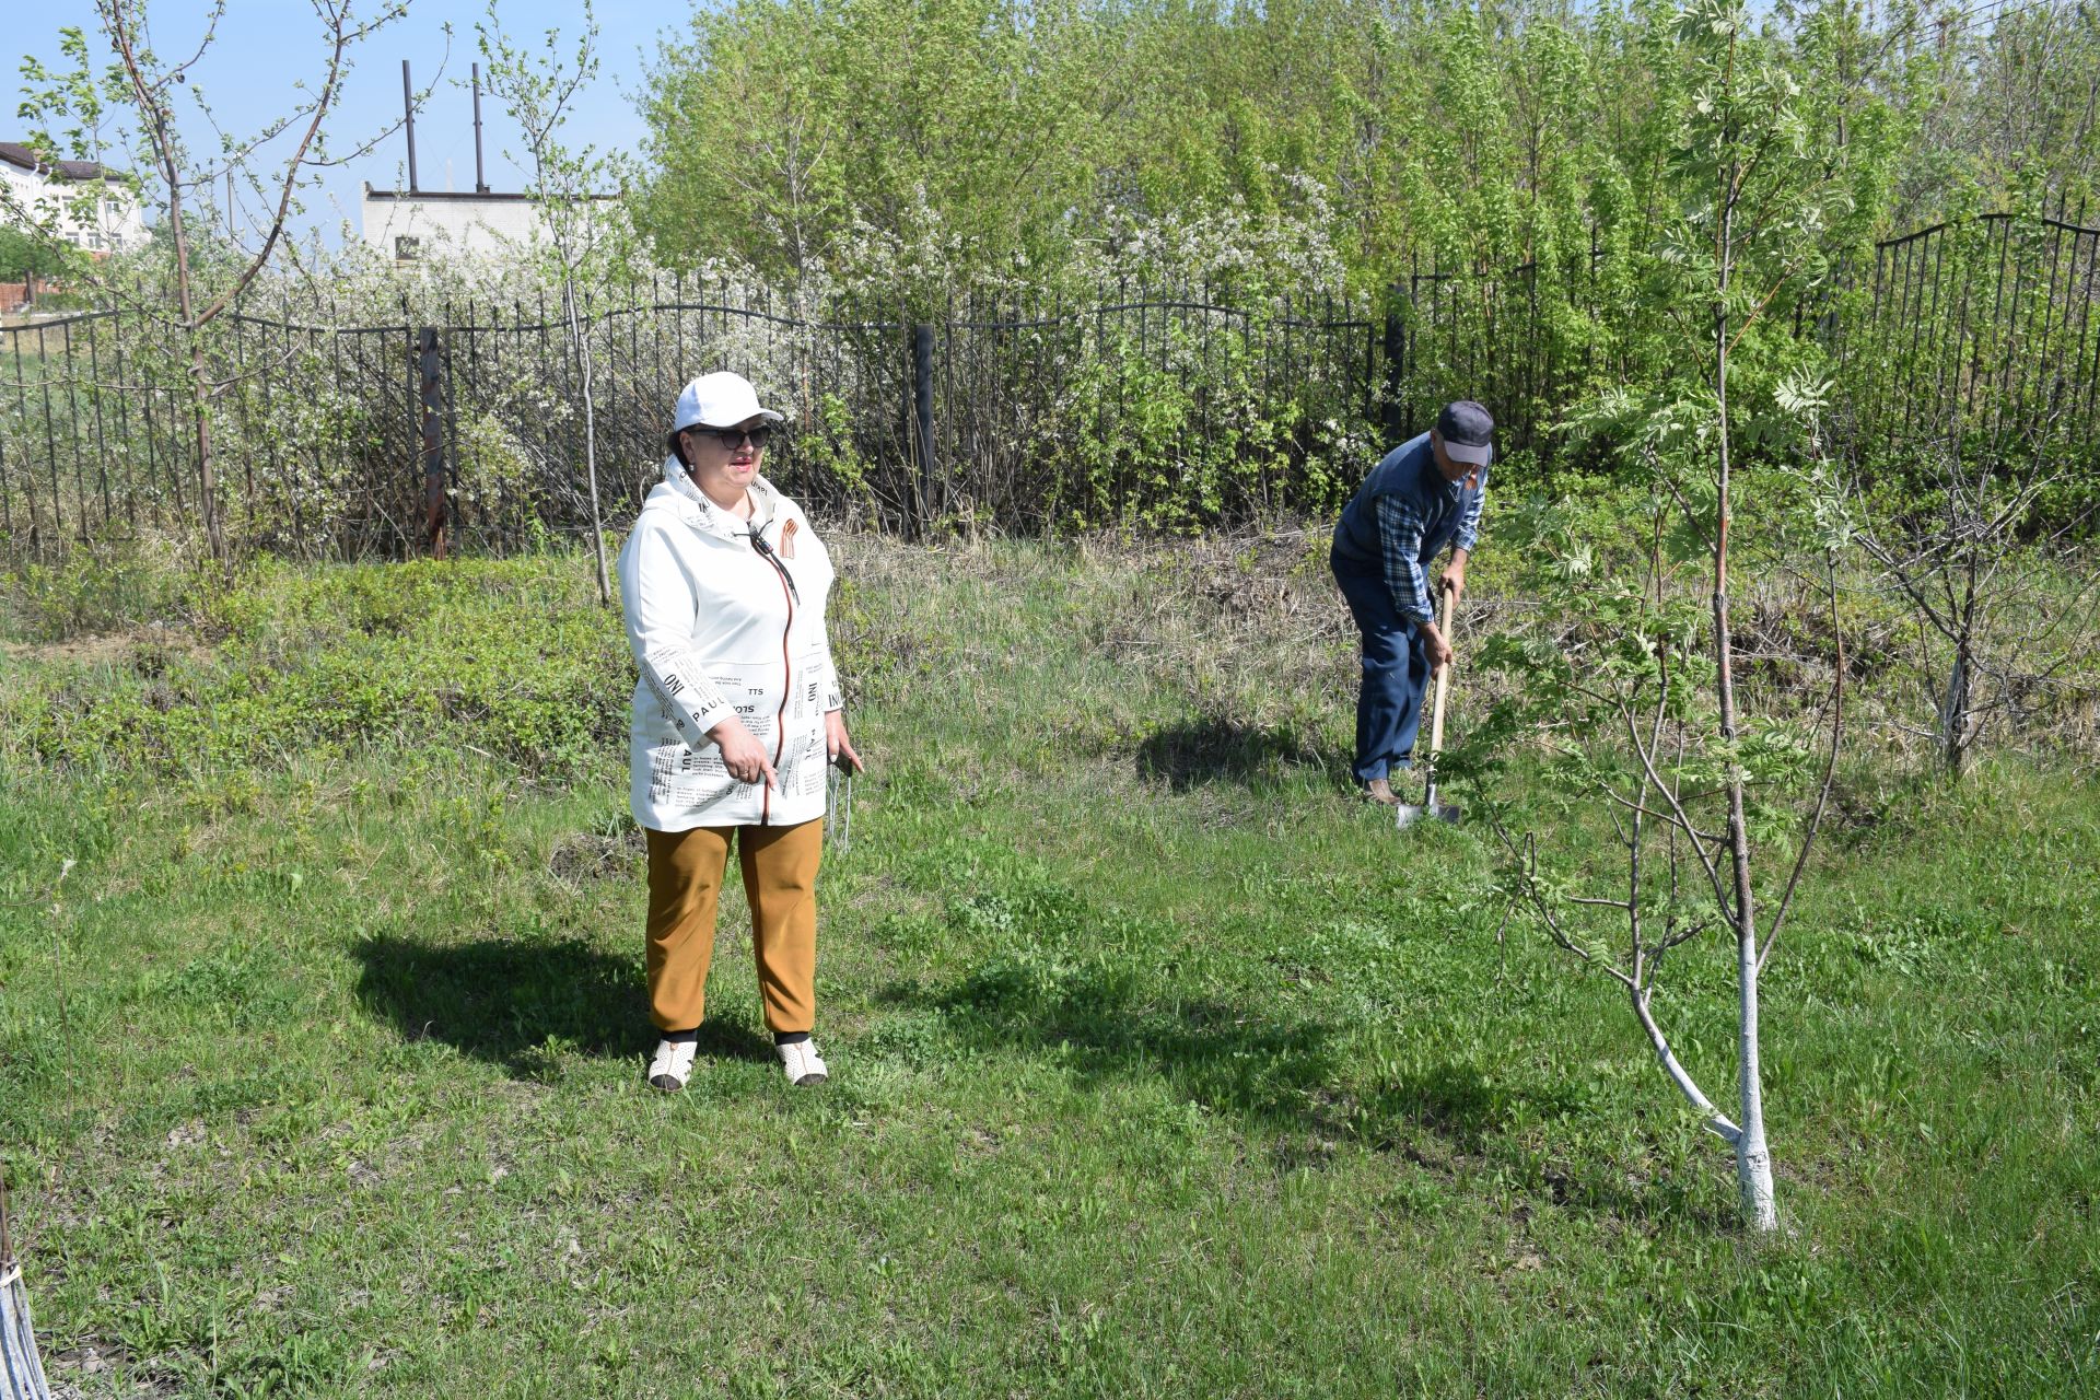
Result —
[{"label": "young leafy tree with white-painted lower trunk, right foreground", "polygon": [[[1529,542],[1508,546],[1531,560],[1554,632],[1483,649],[1485,663],[1522,676],[1520,699],[1483,739],[1544,741],[1548,789],[1562,804],[1558,842],[1518,831],[1514,808],[1497,812],[1512,898],[1560,949],[1628,991],[1661,1068],[1735,1148],[1743,1222],[1764,1232],[1779,1215],[1760,974],[1829,796],[1844,695],[1835,628],[1844,539],[1819,430],[1825,386],[1814,346],[1783,321],[1829,279],[1848,201],[1838,191],[1844,153],[1810,149],[1798,88],[1743,8],[1697,0],[1680,13],[1674,44],[1676,208],[1644,254],[1638,315],[1667,342],[1659,363],[1676,367],[1575,413],[1575,426],[1602,434],[1646,474],[1648,508],[1638,533],[1617,512],[1588,531],[1548,512],[1533,518]],[[1789,516],[1827,527],[1814,542],[1831,621],[1798,623],[1840,653],[1821,707],[1768,697],[1762,714],[1745,709],[1732,596],[1745,441],[1789,468],[1758,485],[1766,535]],[[1783,886],[1770,884],[1772,871]],[[1657,1010],[1659,978],[1678,949],[1714,932],[1735,955],[1732,1115],[1680,1062]]]}]

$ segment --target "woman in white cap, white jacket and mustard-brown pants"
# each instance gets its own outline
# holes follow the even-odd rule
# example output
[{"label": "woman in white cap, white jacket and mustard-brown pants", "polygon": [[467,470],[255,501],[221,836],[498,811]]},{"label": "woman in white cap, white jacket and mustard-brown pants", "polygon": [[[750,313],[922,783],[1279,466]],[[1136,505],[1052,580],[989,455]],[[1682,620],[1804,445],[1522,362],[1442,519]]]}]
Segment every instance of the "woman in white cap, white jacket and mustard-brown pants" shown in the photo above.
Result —
[{"label": "woman in white cap, white jacket and mustard-brown pants", "polygon": [[802,508],[758,474],[775,422],[737,374],[687,384],[664,483],[620,550],[640,667],[630,800],[649,837],[657,1089],[693,1075],[731,842],[775,1049],[798,1085],[827,1075],[811,1039],[825,764],[861,758],[823,630],[832,558]]}]

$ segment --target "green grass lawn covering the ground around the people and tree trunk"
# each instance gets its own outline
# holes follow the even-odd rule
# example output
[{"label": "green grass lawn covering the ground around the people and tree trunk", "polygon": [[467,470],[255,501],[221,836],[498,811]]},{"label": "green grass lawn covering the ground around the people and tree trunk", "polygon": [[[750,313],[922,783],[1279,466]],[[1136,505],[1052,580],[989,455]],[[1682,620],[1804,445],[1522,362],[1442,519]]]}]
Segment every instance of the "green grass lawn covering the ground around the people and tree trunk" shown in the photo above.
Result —
[{"label": "green grass lawn covering the ground around the people and tree trunk", "polygon": [[[821,1091],[771,1060],[735,898],[699,1077],[640,1085],[630,680],[582,563],[265,571],[10,649],[0,894],[78,861],[0,909],[55,1379],[2096,1390],[2068,760],[1846,775],[1766,984],[1789,1232],[1754,1243],[1613,984],[1497,945],[1483,833],[1344,798],[1317,537],[840,565],[872,772],[823,875]],[[1720,1096],[1728,961],[1676,972]]]}]

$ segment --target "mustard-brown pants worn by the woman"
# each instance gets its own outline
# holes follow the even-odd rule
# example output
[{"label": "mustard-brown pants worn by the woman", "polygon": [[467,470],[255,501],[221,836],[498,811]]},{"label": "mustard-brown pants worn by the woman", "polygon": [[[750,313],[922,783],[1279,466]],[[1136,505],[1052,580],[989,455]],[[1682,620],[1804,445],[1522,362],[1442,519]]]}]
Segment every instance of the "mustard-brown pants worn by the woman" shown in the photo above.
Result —
[{"label": "mustard-brown pants worn by the woman", "polygon": [[817,1020],[817,858],[823,819],[794,827],[649,831],[649,1020],[691,1031],[708,1007],[714,903],[729,842],[743,863],[752,951],[766,1028],[808,1031]]}]

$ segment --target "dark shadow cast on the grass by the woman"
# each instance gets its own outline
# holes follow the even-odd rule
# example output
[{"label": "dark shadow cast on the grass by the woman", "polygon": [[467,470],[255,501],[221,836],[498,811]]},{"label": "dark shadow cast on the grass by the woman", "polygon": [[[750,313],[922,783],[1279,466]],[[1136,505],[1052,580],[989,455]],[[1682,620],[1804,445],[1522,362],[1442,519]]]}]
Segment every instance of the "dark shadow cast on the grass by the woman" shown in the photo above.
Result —
[{"label": "dark shadow cast on the grass by the woman", "polygon": [[[533,1077],[548,1047],[586,1056],[645,1056],[655,1045],[638,961],[578,940],[433,945],[365,938],[357,999],[403,1039],[435,1039],[477,1060]],[[769,1041],[710,1020],[701,1056],[771,1060]]]}]

